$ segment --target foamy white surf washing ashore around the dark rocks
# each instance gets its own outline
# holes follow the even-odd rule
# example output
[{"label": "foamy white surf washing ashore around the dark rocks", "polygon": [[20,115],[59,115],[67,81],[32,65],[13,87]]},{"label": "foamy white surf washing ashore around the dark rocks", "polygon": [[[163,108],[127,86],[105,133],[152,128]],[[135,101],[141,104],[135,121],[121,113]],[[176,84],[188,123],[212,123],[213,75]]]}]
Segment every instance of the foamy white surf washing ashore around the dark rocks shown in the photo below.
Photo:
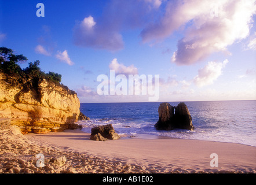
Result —
[{"label": "foamy white surf washing ashore around the dark rocks", "polygon": [[[221,123],[218,125],[205,124],[200,125],[194,123],[195,130],[188,131],[185,129],[174,129],[173,131],[158,131],[155,129],[155,122],[134,120],[134,119],[91,119],[87,121],[79,121],[78,124],[83,126],[82,131],[90,133],[91,128],[97,125],[112,124],[118,134],[136,135],[148,134],[155,136],[168,136],[181,139],[199,139],[211,140],[217,142],[241,143],[244,145],[256,146],[256,138],[250,127],[237,129],[237,125]],[[210,122],[209,122],[210,123]],[[241,125],[239,125],[241,127]],[[251,125],[253,128],[253,125]]]}]

